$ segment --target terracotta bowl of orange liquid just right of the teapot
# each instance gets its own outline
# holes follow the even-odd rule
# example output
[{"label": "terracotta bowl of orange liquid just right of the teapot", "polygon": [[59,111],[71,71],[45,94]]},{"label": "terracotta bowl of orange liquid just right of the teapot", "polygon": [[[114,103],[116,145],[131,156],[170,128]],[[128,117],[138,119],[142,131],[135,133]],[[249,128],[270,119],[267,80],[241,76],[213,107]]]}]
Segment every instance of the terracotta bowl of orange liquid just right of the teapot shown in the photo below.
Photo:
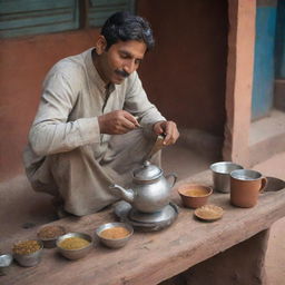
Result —
[{"label": "terracotta bowl of orange liquid just right of the teapot", "polygon": [[213,188],[205,185],[186,184],[181,185],[177,191],[180,195],[185,207],[196,209],[207,204],[208,197],[213,193]]}]

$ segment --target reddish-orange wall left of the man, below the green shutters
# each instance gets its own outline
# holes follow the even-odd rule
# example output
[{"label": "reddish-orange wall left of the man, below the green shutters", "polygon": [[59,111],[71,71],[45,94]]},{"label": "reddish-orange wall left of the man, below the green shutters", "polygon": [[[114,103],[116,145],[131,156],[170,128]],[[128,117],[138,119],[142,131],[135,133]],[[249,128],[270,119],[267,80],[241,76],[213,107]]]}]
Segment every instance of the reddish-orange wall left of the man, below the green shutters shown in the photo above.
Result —
[{"label": "reddish-orange wall left of the man, below the green shutters", "polygon": [[95,35],[90,30],[0,41],[0,179],[23,171],[22,149],[45,75],[59,59],[92,47]]}]

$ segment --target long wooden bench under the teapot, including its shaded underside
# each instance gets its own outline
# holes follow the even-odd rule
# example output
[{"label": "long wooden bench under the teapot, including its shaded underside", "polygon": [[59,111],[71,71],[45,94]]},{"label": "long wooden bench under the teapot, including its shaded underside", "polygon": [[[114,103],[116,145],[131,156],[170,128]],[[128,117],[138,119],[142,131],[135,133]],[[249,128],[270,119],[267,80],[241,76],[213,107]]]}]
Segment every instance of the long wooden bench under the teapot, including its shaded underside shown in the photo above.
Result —
[{"label": "long wooden bench under the teapot, including its shaded underside", "polygon": [[[212,184],[209,171],[179,183]],[[271,188],[272,187],[272,188]],[[194,218],[193,209],[180,207],[176,222],[160,232],[135,232],[120,249],[96,244],[82,259],[71,262],[61,257],[56,248],[43,249],[42,261],[36,267],[13,264],[1,284],[266,284],[264,256],[268,228],[285,216],[285,187],[274,183],[261,195],[253,208],[237,208],[229,204],[229,194],[214,193],[209,203],[222,206],[224,217],[214,223]],[[173,202],[181,206],[177,193]],[[94,234],[95,229],[114,222],[111,207],[94,215],[68,217],[51,224],[65,225],[70,232]],[[27,233],[36,237],[37,228]],[[14,240],[6,242],[7,250]],[[171,279],[169,279],[171,278]],[[168,281],[166,281],[168,279]],[[165,281],[165,282],[164,282]]]}]

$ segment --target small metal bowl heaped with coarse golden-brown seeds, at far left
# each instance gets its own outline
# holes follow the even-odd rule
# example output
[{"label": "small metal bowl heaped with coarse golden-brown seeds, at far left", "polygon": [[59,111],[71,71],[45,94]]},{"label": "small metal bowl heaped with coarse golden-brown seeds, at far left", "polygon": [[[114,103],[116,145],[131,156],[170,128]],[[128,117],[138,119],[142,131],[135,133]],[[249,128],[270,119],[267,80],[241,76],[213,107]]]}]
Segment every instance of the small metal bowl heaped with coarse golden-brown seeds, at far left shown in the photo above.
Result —
[{"label": "small metal bowl heaped with coarse golden-brown seeds, at far left", "polygon": [[13,258],[26,267],[36,266],[41,261],[43,245],[40,240],[23,240],[13,245]]}]

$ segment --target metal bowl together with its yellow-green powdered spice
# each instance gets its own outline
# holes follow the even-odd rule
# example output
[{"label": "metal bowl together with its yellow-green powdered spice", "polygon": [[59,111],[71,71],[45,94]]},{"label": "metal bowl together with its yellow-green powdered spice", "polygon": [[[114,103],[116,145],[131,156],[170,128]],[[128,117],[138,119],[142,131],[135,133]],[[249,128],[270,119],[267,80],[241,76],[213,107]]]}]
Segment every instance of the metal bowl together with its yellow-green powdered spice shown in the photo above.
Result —
[{"label": "metal bowl together with its yellow-green powdered spice", "polygon": [[57,248],[66,258],[79,259],[92,248],[92,237],[83,233],[68,233],[57,239]]}]

